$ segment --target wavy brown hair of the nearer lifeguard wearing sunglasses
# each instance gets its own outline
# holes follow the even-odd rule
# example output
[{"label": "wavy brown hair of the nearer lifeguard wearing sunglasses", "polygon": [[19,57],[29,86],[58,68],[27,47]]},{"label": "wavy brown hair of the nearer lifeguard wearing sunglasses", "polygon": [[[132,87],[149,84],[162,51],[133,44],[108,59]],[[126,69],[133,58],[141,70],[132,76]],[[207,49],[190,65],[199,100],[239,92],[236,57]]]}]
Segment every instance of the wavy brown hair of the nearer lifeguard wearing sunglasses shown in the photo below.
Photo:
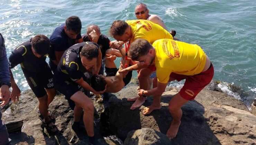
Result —
[{"label": "wavy brown hair of the nearer lifeguard wearing sunglasses", "polygon": [[128,57],[132,60],[138,60],[139,57],[147,54],[150,48],[153,46],[145,39],[136,39],[131,43],[128,50]]}]

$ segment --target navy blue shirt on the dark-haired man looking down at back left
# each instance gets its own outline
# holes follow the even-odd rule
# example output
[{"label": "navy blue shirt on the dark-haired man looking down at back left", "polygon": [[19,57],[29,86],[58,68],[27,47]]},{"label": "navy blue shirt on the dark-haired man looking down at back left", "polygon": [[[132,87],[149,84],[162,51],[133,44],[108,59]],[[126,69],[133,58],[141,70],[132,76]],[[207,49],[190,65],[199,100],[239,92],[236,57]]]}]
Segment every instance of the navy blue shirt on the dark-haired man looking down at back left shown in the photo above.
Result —
[{"label": "navy blue shirt on the dark-haired man looking down at back left", "polygon": [[56,60],[54,51],[65,51],[69,47],[75,44],[76,40],[79,40],[82,38],[81,33],[76,36],[76,39],[70,39],[64,30],[65,23],[63,23],[61,26],[57,27],[51,37],[51,52],[49,54],[49,57],[52,60]]}]

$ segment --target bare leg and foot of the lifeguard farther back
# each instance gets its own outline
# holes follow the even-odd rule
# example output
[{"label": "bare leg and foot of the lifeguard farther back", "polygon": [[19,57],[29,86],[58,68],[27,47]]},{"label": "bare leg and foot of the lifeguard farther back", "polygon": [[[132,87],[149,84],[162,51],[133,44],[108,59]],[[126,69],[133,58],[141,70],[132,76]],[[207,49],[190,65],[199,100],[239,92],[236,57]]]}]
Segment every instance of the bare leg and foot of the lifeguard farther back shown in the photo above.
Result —
[{"label": "bare leg and foot of the lifeguard farther back", "polygon": [[[149,83],[148,83],[148,78],[150,74],[152,74],[153,71],[151,71],[148,68],[143,68],[139,71],[138,79],[139,79],[139,87],[140,89],[148,90],[149,89]],[[132,98],[134,99],[134,98]],[[128,100],[130,101],[130,99]],[[137,100],[132,104],[131,110],[134,110],[138,107],[140,107],[143,103],[145,102],[144,97],[137,97]]]}]

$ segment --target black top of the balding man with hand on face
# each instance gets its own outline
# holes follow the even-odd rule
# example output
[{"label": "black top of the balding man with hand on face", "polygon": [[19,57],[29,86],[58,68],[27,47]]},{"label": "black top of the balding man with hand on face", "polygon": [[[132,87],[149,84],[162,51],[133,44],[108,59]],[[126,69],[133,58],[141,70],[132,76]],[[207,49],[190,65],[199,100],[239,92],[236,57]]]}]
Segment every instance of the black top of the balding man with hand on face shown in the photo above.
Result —
[{"label": "black top of the balding man with hand on face", "polygon": [[[87,36],[87,34],[82,35],[82,38],[83,38],[84,42],[89,42],[90,41],[89,37]],[[100,47],[100,50],[101,50],[101,53],[102,53],[102,59],[103,59],[103,58],[105,58],[107,49],[110,48],[109,47],[110,40],[108,39],[108,37],[106,35],[101,34],[97,44]]]}]

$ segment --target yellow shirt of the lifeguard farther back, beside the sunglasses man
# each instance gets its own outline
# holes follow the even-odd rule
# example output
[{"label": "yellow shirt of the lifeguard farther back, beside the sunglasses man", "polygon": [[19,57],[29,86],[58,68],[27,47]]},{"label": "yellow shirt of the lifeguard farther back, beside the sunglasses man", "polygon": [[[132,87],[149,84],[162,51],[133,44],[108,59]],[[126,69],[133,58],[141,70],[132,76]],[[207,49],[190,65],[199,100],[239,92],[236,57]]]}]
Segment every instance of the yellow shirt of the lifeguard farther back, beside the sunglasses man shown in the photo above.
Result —
[{"label": "yellow shirt of the lifeguard farther back, beside the sunglasses man", "polygon": [[158,39],[173,39],[172,35],[168,31],[151,21],[128,20],[126,22],[131,26],[131,43],[138,38],[145,39],[150,44],[153,44]]}]

